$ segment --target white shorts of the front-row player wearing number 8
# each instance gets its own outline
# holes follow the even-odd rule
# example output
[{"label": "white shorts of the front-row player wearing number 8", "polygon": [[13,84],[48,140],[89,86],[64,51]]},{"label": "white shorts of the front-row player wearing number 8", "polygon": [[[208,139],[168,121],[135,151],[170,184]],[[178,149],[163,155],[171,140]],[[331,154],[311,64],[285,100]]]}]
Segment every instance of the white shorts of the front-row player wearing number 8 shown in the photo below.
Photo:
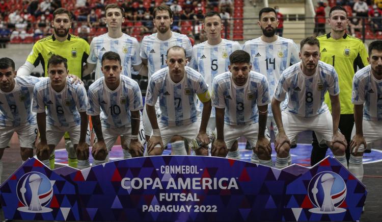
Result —
[{"label": "white shorts of the front-row player wearing number 8", "polygon": [[329,110],[312,117],[302,117],[284,110],[281,116],[285,134],[290,142],[297,142],[297,134],[306,130],[314,131],[320,144],[332,141],[333,120]]}]

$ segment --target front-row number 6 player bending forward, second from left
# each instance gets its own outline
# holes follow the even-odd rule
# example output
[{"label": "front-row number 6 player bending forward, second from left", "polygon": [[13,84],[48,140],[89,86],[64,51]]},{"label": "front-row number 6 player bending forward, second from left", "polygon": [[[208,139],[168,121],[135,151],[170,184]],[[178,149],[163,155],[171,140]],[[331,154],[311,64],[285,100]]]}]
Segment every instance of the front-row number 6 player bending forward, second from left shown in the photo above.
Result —
[{"label": "front-row number 6 player bending forward, second from left", "polygon": [[87,168],[90,164],[89,145],[86,144],[88,115],[85,87],[70,84],[68,65],[61,56],[53,54],[48,60],[47,70],[49,78],[37,83],[33,91],[32,111],[37,113],[41,140],[36,156],[48,166],[51,152],[68,132],[78,157],[78,168]]}]

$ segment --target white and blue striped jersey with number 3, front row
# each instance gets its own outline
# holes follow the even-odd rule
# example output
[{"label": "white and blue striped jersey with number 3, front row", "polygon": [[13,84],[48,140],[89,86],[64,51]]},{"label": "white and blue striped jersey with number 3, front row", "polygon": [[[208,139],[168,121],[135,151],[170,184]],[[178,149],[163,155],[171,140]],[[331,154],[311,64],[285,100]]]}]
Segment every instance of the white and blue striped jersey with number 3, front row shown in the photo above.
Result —
[{"label": "white and blue striped jersey with number 3, front row", "polygon": [[270,103],[268,81],[258,72],[250,71],[243,86],[237,86],[230,71],[217,75],[212,83],[212,106],[225,108],[227,125],[254,124],[259,121],[257,106]]}]

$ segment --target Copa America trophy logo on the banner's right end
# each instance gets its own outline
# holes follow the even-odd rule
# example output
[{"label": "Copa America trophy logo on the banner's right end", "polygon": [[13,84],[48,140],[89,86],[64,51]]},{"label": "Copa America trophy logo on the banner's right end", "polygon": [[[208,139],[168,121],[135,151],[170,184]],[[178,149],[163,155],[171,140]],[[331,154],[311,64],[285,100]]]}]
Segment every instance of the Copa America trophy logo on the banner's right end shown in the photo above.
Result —
[{"label": "Copa America trophy logo on the banner's right end", "polygon": [[316,208],[309,209],[312,213],[342,213],[340,208],[346,198],[346,184],[335,172],[323,171],[310,180],[308,185],[309,199]]}]

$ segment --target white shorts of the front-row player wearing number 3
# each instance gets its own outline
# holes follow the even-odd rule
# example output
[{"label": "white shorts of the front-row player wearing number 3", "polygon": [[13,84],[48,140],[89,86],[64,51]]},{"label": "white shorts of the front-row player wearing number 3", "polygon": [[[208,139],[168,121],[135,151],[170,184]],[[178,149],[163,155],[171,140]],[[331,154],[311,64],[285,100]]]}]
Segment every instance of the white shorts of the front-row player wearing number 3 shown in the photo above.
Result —
[{"label": "white shorts of the front-row player wearing number 3", "polygon": [[[245,137],[252,147],[256,146],[259,134],[259,123],[247,125],[227,125],[224,124],[224,142],[227,149],[230,150],[233,143],[241,136]],[[270,140],[268,129],[264,132],[265,138]]]}]

